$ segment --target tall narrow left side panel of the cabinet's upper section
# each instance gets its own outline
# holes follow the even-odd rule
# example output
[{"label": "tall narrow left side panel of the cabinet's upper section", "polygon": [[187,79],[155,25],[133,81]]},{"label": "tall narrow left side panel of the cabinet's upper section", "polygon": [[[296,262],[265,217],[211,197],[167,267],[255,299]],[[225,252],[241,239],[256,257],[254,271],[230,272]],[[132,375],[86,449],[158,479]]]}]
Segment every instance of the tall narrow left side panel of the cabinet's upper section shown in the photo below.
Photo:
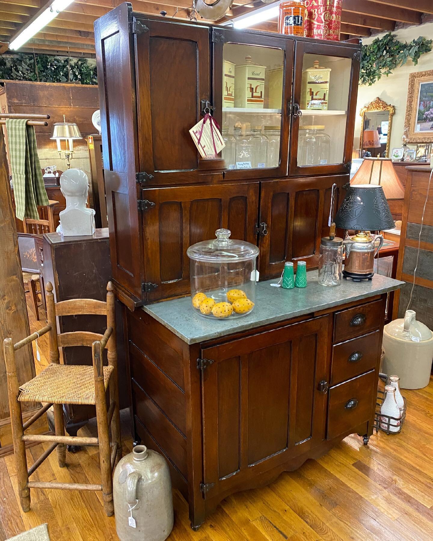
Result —
[{"label": "tall narrow left side panel of the cabinet's upper section", "polygon": [[[110,254],[113,279],[142,298],[139,186],[132,6],[124,3],[95,22]],[[120,71],[119,71],[120,70]]]}]

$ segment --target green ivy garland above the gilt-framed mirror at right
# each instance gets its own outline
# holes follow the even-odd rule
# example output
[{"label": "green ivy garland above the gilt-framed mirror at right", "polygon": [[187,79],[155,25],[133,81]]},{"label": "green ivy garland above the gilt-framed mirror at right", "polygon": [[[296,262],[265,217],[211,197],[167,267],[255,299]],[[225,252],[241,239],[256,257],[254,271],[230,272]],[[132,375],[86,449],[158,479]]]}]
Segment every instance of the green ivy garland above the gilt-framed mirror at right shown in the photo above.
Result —
[{"label": "green ivy garland above the gilt-framed mirror at right", "polygon": [[381,38],[374,39],[369,45],[363,45],[359,82],[371,86],[383,75],[390,75],[393,70],[405,64],[411,58],[415,65],[424,52],[431,51],[431,39],[418,37],[410,43],[396,39],[388,32]]}]

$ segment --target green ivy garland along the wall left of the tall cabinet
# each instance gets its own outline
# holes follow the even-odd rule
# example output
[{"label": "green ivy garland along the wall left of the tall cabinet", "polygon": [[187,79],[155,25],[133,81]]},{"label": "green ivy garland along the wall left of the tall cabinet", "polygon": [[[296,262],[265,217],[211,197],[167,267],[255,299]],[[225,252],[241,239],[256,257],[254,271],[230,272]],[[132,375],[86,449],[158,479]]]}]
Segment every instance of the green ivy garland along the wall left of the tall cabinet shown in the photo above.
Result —
[{"label": "green ivy garland along the wall left of the tall cabinet", "polygon": [[25,52],[0,56],[0,79],[43,83],[80,81],[82,84],[98,84],[96,66],[89,64],[87,58]]}]

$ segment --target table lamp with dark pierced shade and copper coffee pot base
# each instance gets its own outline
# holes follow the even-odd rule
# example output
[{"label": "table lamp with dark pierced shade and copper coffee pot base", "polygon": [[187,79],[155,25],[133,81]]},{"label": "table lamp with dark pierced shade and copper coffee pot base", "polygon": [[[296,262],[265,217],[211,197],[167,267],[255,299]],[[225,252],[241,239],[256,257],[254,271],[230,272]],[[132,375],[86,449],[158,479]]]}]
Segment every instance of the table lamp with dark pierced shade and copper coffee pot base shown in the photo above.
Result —
[{"label": "table lamp with dark pierced shade and copper coffee pot base", "polygon": [[[343,276],[353,281],[373,278],[374,258],[383,245],[383,236],[375,239],[370,231],[395,227],[382,186],[356,184],[349,186],[335,217],[337,227],[355,229],[354,236],[344,241],[345,261]],[[376,241],[379,244],[376,246]]]}]

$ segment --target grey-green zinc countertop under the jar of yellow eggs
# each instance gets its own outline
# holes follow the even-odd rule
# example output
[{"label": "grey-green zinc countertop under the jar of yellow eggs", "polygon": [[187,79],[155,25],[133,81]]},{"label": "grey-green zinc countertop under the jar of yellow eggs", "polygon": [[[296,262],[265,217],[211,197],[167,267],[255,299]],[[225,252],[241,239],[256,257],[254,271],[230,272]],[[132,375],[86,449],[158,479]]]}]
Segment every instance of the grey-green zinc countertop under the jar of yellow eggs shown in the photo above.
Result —
[{"label": "grey-green zinc countertop under the jar of yellow eggs", "polygon": [[272,287],[271,283],[276,282],[278,279],[257,283],[255,307],[241,318],[204,318],[193,309],[189,296],[156,302],[142,309],[187,344],[195,344],[387,293],[404,285],[404,282],[375,274],[372,280],[343,279],[338,287],[324,287],[317,282],[317,271],[307,272],[305,288]]}]

